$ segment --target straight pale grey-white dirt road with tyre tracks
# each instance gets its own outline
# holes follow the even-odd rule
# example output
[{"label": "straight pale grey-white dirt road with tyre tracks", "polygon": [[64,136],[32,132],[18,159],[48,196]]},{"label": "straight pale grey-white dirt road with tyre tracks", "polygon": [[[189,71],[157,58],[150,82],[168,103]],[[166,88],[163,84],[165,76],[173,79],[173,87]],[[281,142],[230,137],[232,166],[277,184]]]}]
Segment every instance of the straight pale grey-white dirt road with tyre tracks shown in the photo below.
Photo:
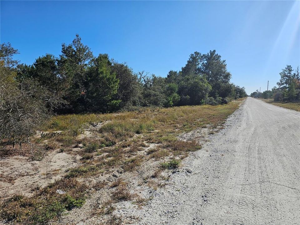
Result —
[{"label": "straight pale grey-white dirt road with tyre tracks", "polygon": [[137,224],[300,224],[299,112],[249,97],[183,163]]}]

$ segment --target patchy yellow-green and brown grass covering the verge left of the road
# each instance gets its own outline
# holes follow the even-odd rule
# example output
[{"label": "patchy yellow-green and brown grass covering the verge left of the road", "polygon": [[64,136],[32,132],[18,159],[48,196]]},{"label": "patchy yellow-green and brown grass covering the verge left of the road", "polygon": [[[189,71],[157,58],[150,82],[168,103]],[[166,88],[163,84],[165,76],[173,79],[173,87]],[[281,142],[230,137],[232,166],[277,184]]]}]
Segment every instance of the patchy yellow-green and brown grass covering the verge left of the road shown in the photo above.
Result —
[{"label": "patchy yellow-green and brown grass covering the verge left of the road", "polygon": [[[60,181],[38,191],[33,197],[15,196],[5,201],[1,207],[3,220],[14,220],[20,224],[47,223],[62,212],[73,207],[81,207],[87,187],[75,178],[89,178],[98,173],[111,173],[111,169],[121,168],[125,172],[135,171],[145,160],[161,160],[166,157],[184,158],[189,152],[201,148],[196,141],[180,141],[178,134],[195,128],[206,127],[207,124],[217,126],[237,108],[243,99],[219,106],[182,106],[172,108],[144,108],[136,112],[108,114],[70,114],[54,116],[44,125],[44,131],[63,131],[59,136],[49,137],[48,143],[57,143],[58,148],[82,155],[81,165],[71,168]],[[96,137],[77,138],[93,123],[103,123],[97,128]],[[38,139],[37,141],[42,141]],[[141,156],[140,151],[147,147],[145,143],[159,143],[158,147],[149,149],[148,156]],[[82,145],[79,145],[82,144]],[[52,144],[51,144],[52,145]],[[83,147],[82,147],[83,146]],[[49,146],[51,148],[52,146]],[[72,150],[76,148],[77,150]],[[82,148],[79,149],[78,148]],[[97,153],[96,153],[97,152]],[[180,160],[172,159],[159,164],[152,178],[160,177],[162,169],[175,169]],[[148,182],[149,185],[151,182]],[[95,183],[93,188],[100,190],[111,187],[109,194],[111,203],[100,209],[99,213],[112,214],[113,202],[132,200],[126,183],[118,179],[109,184]],[[158,185],[153,183],[153,188]],[[59,195],[55,191],[61,189],[66,194]],[[144,199],[136,200],[143,204]],[[101,214],[101,213],[100,213]],[[106,224],[119,224],[122,219],[111,217]]]}]

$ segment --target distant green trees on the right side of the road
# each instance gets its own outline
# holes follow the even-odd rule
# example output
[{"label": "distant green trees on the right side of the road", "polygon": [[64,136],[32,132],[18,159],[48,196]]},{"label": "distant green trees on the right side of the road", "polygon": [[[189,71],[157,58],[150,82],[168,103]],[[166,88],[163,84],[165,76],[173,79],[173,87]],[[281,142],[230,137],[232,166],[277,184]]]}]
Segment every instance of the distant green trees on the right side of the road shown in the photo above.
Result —
[{"label": "distant green trees on the right side of the road", "polygon": [[300,101],[300,76],[299,66],[293,70],[292,66],[287,65],[282,72],[279,73],[280,80],[277,82],[278,87],[260,93],[258,90],[251,93],[254,98],[274,98],[275,102],[282,101]]}]

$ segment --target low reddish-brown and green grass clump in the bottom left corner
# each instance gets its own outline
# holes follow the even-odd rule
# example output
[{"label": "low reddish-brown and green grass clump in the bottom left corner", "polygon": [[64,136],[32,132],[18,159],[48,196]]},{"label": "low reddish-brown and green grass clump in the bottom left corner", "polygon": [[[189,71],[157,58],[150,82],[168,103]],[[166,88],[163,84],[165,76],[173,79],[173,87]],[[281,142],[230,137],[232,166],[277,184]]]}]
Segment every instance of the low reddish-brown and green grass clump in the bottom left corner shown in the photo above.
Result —
[{"label": "low reddish-brown and green grass clump in the bottom left corner", "polygon": [[[65,194],[56,193],[57,189]],[[1,204],[1,218],[18,224],[44,224],[64,211],[81,207],[87,186],[76,179],[61,179],[38,190],[34,197],[15,195]]]}]

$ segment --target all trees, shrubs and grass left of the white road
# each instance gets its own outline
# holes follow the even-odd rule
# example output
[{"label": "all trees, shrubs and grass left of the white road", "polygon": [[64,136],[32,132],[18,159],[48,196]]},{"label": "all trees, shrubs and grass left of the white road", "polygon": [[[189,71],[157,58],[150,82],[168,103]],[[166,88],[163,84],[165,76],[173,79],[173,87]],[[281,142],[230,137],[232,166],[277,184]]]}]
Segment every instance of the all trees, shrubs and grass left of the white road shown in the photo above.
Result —
[{"label": "all trees, shrubs and grass left of the white road", "polygon": [[107,54],[95,57],[78,35],[62,45],[59,58],[46,54],[33,65],[14,60],[18,51],[9,43],[0,50],[1,157],[37,161],[55,151],[81,157],[32,196],[4,199],[1,219],[14,224],[53,221],[97,192],[102,195],[91,216],[103,224],[122,222],[113,214],[118,202],[143,206],[149,200],[130,189],[133,177],[139,186],[163,187],[181,161],[201,149],[178,136],[197,128],[216,132],[247,95],[230,83],[215,50],[192,53],[166,78],[135,74]]}]

